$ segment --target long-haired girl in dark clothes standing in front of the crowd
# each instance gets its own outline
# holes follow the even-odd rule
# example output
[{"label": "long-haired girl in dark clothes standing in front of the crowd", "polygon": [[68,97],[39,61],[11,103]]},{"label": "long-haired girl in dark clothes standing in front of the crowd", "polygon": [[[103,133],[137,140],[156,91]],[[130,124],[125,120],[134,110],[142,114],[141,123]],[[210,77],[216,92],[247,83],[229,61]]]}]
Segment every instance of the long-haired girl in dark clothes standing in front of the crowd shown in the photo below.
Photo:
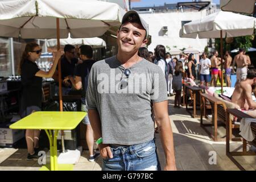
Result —
[{"label": "long-haired girl in dark clothes standing in front of the crowd", "polygon": [[185,72],[181,61],[177,61],[174,78],[172,79],[172,88],[175,90],[174,107],[180,108],[181,104],[181,90],[182,90],[182,79],[185,78]]}]

